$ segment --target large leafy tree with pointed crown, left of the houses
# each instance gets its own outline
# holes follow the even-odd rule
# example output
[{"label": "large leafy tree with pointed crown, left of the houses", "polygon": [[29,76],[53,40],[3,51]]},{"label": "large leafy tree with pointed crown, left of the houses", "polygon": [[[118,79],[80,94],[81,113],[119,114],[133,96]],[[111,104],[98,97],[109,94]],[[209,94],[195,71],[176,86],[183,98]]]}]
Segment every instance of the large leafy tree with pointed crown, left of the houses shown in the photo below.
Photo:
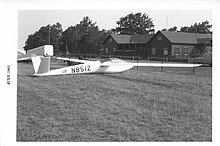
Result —
[{"label": "large leafy tree with pointed crown, left of the houses", "polygon": [[97,53],[104,38],[105,31],[100,31],[89,17],[84,17],[79,24],[63,32],[62,51],[71,54]]}]

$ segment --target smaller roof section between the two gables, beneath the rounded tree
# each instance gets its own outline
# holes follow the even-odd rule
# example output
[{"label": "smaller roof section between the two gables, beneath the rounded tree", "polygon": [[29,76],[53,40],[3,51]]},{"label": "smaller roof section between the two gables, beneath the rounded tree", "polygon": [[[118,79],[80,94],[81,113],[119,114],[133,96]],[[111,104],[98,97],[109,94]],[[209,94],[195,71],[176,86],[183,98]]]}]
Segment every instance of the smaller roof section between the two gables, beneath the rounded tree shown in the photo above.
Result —
[{"label": "smaller roof section between the two gables, beneath the rounded tree", "polygon": [[130,44],[130,43],[147,43],[153,34],[145,35],[110,35],[118,44]]}]

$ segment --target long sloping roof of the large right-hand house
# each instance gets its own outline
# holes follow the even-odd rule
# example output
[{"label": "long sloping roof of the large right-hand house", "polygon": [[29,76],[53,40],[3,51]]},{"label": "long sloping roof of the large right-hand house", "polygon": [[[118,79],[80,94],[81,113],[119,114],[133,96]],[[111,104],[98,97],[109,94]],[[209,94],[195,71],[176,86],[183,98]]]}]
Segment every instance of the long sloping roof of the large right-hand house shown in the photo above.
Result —
[{"label": "long sloping roof of the large right-hand house", "polygon": [[199,34],[199,33],[186,33],[186,32],[174,32],[174,31],[160,31],[171,43],[182,44],[198,44],[205,43],[204,41],[210,41],[211,34]]}]

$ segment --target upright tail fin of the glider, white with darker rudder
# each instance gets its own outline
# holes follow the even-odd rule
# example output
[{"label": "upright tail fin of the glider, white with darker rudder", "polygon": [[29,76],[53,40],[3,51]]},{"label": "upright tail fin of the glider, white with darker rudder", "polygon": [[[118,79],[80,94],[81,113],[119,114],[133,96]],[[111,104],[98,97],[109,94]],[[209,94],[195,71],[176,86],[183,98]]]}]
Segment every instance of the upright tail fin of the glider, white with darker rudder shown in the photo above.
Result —
[{"label": "upright tail fin of the glider, white with darker rudder", "polygon": [[34,66],[34,75],[47,73],[50,71],[50,57],[31,57]]}]

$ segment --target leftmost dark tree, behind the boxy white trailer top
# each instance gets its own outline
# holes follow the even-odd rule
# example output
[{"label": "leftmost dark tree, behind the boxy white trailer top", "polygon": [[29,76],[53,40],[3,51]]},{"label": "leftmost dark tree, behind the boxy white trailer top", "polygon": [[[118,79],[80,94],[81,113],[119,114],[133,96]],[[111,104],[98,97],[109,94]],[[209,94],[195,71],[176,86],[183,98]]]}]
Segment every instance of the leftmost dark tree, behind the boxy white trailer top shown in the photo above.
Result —
[{"label": "leftmost dark tree, behind the boxy white trailer top", "polygon": [[59,43],[62,33],[62,25],[59,22],[52,26],[42,26],[34,34],[28,36],[24,50],[27,51],[42,45],[51,44],[54,46],[54,53],[56,54],[59,51]]}]

